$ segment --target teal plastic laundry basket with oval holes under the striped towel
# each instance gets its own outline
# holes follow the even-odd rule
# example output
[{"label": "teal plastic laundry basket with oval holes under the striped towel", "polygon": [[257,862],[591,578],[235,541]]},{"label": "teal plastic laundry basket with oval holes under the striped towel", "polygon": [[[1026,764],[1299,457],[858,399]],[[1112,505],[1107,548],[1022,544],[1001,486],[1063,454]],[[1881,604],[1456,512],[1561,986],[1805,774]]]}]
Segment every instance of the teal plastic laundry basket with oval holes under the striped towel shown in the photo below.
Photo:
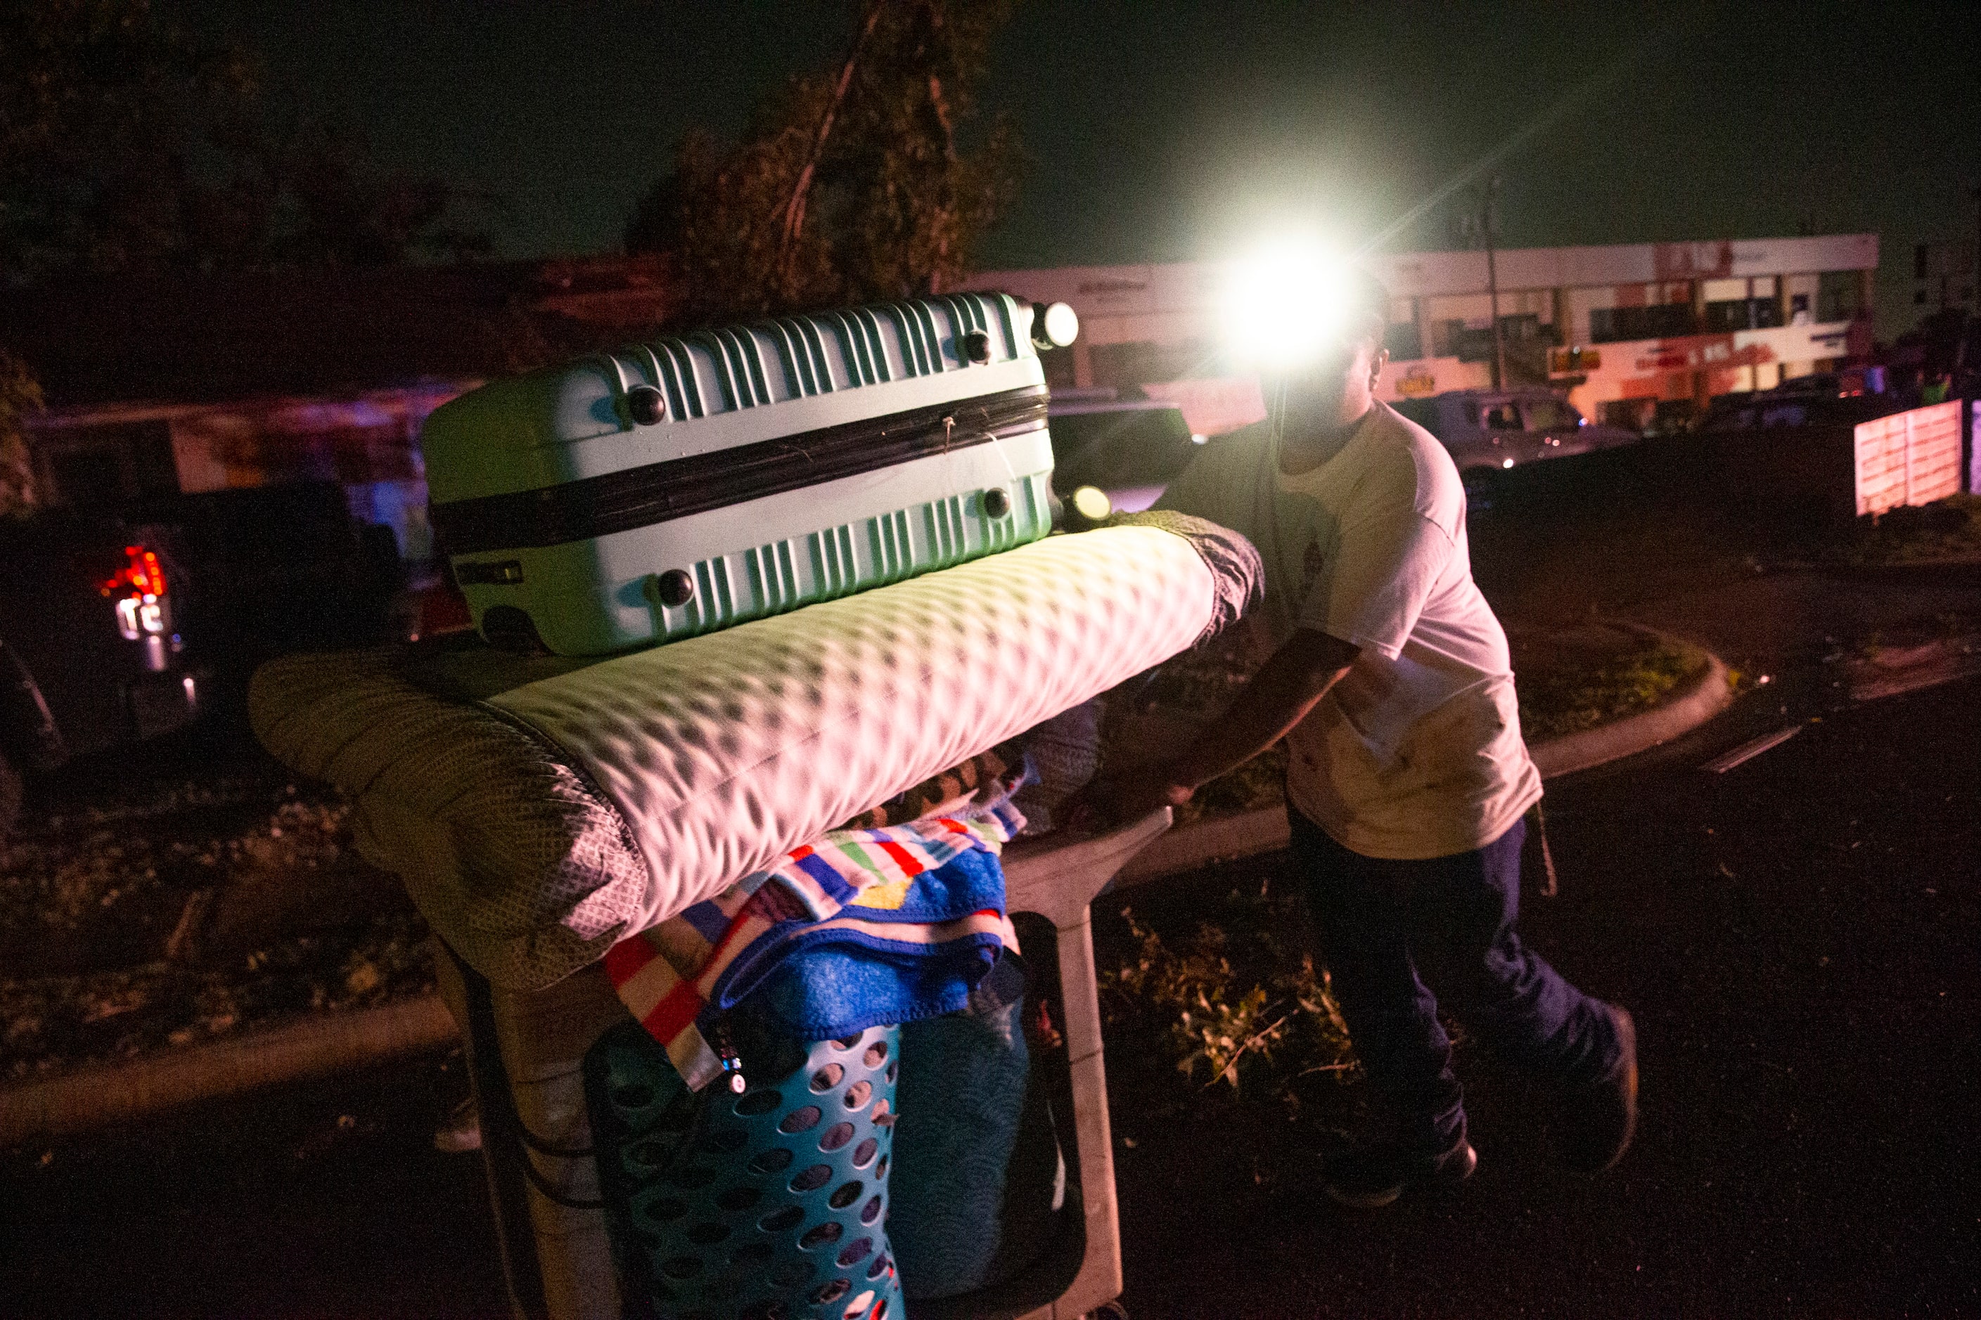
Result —
[{"label": "teal plastic laundry basket with oval holes under the striped towel", "polygon": [[743,1094],[697,1096],[638,1023],[602,1035],[584,1090],[628,1314],[903,1320],[886,1231],[897,1055],[899,1027],[792,1045],[782,1069],[745,1051]]}]

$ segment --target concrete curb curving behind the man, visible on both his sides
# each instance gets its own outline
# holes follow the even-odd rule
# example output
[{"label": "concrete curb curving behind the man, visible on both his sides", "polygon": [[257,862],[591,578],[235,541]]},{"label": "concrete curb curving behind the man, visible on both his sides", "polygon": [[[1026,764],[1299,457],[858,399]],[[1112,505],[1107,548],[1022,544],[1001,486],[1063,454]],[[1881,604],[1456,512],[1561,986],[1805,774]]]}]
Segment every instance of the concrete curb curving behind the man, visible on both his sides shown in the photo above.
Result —
[{"label": "concrete curb curving behind the man, visible on both his sides", "polygon": [[[1638,631],[1674,645],[1702,651],[1692,643],[1660,633],[1650,627],[1632,625]],[[1712,651],[1706,655],[1706,673],[1692,681],[1662,707],[1652,707],[1640,714],[1624,716],[1613,724],[1587,728],[1579,734],[1549,738],[1527,748],[1535,770],[1543,780],[1553,780],[1579,770],[1595,770],[1624,756],[1648,752],[1660,742],[1692,732],[1733,703],[1733,683],[1725,661]],[[1125,889],[1143,881],[1177,871],[1193,871],[1212,861],[1232,861],[1256,853],[1274,853],[1288,845],[1290,827],[1286,807],[1260,807],[1242,815],[1220,815],[1208,821],[1193,821],[1171,829],[1135,853],[1133,861],[1121,867],[1113,889]]]}]

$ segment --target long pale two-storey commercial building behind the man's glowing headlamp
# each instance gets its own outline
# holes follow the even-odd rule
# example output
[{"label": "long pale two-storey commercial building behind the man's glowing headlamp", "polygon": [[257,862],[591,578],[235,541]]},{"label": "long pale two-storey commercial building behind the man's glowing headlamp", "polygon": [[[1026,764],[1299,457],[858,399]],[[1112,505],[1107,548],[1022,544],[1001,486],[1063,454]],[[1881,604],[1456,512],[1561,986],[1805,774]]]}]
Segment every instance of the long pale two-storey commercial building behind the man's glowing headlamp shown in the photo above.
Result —
[{"label": "long pale two-storey commercial building behind the man's glowing headlamp", "polygon": [[[1492,303],[1484,251],[1373,257],[1391,291],[1383,396],[1484,388]],[[1870,350],[1876,234],[1496,255],[1510,386],[1565,388],[1583,414],[1676,424],[1718,394],[1767,390]],[[1264,416],[1256,380],[1218,344],[1214,263],[987,271],[977,289],[1066,301],[1080,342],[1056,384],[1139,388],[1216,433]]]}]

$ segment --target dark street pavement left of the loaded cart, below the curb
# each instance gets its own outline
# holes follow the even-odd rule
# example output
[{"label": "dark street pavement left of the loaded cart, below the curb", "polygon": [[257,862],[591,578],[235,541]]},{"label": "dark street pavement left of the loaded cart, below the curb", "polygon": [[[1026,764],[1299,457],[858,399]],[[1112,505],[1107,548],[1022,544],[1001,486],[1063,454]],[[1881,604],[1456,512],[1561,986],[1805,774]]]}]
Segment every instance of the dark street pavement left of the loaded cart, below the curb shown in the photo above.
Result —
[{"label": "dark street pavement left of the loaded cart, below the curb", "polygon": [[434,1130],[458,1059],[0,1160],[0,1316],[507,1316],[487,1183]]}]

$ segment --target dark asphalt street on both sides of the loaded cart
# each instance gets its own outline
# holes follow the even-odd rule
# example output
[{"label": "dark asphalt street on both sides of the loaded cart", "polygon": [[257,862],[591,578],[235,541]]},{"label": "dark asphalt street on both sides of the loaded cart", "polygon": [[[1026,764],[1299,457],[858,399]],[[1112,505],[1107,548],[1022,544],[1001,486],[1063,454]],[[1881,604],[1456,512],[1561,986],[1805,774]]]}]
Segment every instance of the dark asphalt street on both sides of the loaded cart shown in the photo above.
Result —
[{"label": "dark asphalt street on both sides of the loaded cart", "polygon": [[[1981,681],[1779,683],[1549,794],[1527,938],[1638,1021],[1615,1172],[1557,1172],[1545,1096],[1476,1049],[1480,1172],[1377,1213],[1319,1195],[1298,1126],[1163,1130],[1117,1094],[1131,1314],[1981,1314]],[[428,1061],[22,1152],[0,1314],[499,1314],[479,1168],[430,1148],[458,1088]]]}]

